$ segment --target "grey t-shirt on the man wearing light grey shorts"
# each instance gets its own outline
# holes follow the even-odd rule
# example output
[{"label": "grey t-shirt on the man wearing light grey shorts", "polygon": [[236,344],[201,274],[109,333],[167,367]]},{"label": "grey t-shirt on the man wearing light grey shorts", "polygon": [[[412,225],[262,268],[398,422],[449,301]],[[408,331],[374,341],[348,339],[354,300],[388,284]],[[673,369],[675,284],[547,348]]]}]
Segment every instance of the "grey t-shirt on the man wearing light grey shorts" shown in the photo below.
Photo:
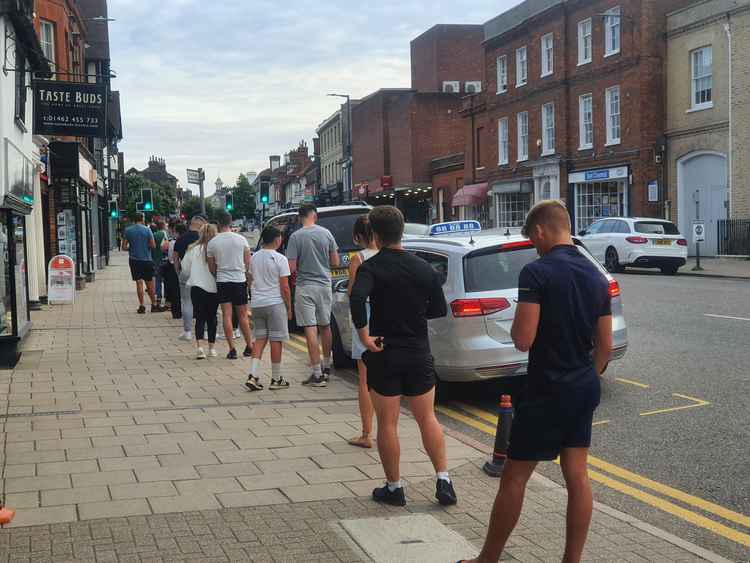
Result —
[{"label": "grey t-shirt on the man wearing light grey shorts", "polygon": [[297,261],[297,285],[331,285],[331,253],[338,249],[331,231],[320,225],[292,233],[286,257]]}]

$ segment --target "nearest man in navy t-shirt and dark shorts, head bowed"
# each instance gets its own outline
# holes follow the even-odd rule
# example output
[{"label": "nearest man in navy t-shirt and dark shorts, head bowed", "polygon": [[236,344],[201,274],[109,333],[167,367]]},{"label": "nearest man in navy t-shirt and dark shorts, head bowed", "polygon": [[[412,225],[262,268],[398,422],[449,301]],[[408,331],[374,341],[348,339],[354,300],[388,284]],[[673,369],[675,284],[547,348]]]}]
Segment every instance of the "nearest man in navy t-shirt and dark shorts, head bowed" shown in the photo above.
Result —
[{"label": "nearest man in navy t-shirt and dark shorts, head bowed", "polygon": [[529,352],[525,389],[517,400],[490,529],[476,561],[498,561],[521,514],[537,462],[560,457],[568,489],[563,561],[579,561],[593,499],[587,472],[599,377],[612,349],[609,283],[573,244],[570,217],[559,201],[542,201],[523,228],[540,259],[521,271],[511,336]]}]

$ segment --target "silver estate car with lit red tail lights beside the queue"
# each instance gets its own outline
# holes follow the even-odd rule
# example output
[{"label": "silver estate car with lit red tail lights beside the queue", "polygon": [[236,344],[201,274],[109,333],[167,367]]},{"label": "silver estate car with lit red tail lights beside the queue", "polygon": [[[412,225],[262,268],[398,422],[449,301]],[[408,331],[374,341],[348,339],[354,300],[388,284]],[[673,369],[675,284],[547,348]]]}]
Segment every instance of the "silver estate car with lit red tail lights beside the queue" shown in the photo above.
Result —
[{"label": "silver estate car with lit red tail lights beside the queue", "polygon": [[[537,258],[531,243],[517,234],[463,234],[408,238],[404,248],[424,258],[443,279],[448,316],[429,321],[435,369],[443,381],[470,382],[522,375],[528,354],[510,336],[518,300],[518,275]],[[579,251],[609,280],[612,295],[612,359],[628,347],[622,297],[617,281],[576,241]],[[351,365],[352,322],[348,280],[334,283],[333,355],[336,367]]]}]

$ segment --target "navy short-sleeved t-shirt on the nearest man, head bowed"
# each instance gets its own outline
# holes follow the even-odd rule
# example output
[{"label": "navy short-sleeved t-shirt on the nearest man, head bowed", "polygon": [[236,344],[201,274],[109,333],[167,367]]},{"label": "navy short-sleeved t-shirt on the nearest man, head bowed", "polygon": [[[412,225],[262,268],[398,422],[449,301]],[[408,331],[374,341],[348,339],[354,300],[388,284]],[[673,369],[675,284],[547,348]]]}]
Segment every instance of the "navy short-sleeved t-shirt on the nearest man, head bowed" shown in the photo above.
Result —
[{"label": "navy short-sleeved t-shirt on the nearest man, head bowed", "polygon": [[529,350],[529,392],[545,394],[596,380],[594,332],[599,317],[612,314],[604,274],[575,246],[556,246],[521,270],[518,301],[541,306]]}]

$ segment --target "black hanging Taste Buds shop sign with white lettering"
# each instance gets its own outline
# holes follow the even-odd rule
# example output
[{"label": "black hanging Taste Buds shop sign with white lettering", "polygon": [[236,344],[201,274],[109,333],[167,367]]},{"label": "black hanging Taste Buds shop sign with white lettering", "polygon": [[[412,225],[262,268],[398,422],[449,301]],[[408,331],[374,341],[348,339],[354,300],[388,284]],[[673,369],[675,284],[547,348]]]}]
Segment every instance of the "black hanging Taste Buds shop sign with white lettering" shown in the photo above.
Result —
[{"label": "black hanging Taste Buds shop sign with white lettering", "polygon": [[34,134],[103,138],[105,97],[104,84],[34,81]]}]

